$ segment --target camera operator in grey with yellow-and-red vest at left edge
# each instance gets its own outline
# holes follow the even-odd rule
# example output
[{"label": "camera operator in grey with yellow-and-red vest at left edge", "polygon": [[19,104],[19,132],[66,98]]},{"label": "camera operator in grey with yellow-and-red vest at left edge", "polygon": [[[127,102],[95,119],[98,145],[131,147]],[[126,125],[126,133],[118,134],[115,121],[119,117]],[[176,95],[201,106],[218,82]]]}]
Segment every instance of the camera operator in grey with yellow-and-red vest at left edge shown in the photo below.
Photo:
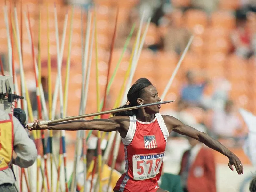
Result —
[{"label": "camera operator in grey with yellow-and-red vest at left edge", "polygon": [[[16,117],[22,122],[20,122]],[[26,115],[25,115],[26,120]],[[14,109],[14,116],[0,109],[0,191],[17,191],[12,164],[21,168],[33,165],[36,146],[24,129],[24,114]],[[24,121],[24,122],[23,122]],[[23,125],[22,125],[23,123]]]}]

